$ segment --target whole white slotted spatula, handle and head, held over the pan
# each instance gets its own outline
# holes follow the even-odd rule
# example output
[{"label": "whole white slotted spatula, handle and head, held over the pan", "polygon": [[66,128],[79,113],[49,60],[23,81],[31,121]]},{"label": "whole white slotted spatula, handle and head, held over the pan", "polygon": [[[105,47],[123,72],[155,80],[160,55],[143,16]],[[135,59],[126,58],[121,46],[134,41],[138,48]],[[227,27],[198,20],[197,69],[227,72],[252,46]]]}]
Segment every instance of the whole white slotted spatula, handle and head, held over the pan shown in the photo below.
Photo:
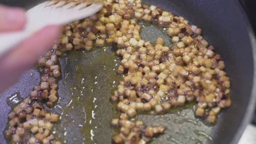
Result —
[{"label": "whole white slotted spatula, handle and head, held over the pan", "polygon": [[102,8],[102,4],[86,4],[67,1],[47,1],[27,11],[27,24],[23,31],[0,33],[0,56],[15,47],[33,33],[48,25],[65,25],[85,19]]}]

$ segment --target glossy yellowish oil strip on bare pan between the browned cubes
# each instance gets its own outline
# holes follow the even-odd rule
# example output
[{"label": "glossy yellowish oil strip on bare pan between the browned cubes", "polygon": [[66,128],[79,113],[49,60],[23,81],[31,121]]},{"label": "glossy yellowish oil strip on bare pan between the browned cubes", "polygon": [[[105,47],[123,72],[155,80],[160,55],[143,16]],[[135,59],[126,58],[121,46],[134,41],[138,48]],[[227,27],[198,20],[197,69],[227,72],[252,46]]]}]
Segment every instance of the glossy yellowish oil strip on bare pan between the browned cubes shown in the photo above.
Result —
[{"label": "glossy yellowish oil strip on bare pan between the browned cubes", "polygon": [[121,76],[116,73],[118,57],[112,46],[98,47],[91,52],[71,51],[61,58],[64,78],[59,81],[61,113],[56,135],[67,143],[111,142],[113,94]]}]

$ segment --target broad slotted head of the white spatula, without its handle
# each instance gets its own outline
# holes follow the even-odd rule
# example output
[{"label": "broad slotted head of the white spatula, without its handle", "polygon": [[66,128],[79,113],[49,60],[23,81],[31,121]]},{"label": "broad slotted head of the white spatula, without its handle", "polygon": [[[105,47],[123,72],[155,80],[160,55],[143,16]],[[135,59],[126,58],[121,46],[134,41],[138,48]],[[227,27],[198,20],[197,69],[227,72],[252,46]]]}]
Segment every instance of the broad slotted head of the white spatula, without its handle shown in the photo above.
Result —
[{"label": "broad slotted head of the white spatula, without its handle", "polygon": [[27,11],[30,25],[66,25],[73,21],[85,19],[101,10],[102,4],[90,1],[46,1]]}]

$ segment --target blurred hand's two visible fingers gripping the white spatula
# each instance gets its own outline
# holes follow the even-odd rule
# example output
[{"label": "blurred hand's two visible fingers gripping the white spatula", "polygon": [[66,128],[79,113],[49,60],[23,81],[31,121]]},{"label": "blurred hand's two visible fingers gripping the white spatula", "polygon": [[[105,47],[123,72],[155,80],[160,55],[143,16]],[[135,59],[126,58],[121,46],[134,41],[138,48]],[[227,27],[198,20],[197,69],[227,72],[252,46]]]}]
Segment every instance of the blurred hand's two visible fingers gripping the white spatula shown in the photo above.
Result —
[{"label": "blurred hand's two visible fingers gripping the white spatula", "polygon": [[[20,31],[26,26],[26,12],[0,5],[0,33]],[[0,92],[15,83],[39,56],[49,51],[60,33],[60,26],[48,26],[0,57]],[[0,42],[1,49],[1,42]]]}]

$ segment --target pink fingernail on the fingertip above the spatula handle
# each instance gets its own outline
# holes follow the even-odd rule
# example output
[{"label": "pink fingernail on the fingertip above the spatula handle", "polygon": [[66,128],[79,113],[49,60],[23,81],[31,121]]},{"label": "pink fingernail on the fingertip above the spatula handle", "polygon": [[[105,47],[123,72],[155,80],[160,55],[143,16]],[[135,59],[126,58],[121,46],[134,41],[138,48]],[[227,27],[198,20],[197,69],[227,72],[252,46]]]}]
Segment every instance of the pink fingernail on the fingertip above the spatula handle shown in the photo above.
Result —
[{"label": "pink fingernail on the fingertip above the spatula handle", "polygon": [[26,20],[26,13],[22,9],[13,8],[7,10],[7,21],[13,23],[24,23]]}]

